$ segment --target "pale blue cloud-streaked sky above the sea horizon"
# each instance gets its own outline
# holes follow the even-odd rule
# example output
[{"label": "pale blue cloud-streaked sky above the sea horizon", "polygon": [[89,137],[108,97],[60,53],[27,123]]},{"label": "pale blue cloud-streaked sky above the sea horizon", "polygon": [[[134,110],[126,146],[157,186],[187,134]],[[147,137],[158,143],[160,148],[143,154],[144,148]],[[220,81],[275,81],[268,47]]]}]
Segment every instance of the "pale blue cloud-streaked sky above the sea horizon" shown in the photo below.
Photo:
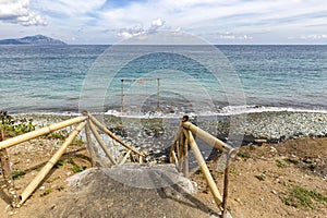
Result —
[{"label": "pale blue cloud-streaked sky above the sea horizon", "polygon": [[0,0],[0,39],[116,44],[158,31],[211,44],[327,45],[326,0]]}]

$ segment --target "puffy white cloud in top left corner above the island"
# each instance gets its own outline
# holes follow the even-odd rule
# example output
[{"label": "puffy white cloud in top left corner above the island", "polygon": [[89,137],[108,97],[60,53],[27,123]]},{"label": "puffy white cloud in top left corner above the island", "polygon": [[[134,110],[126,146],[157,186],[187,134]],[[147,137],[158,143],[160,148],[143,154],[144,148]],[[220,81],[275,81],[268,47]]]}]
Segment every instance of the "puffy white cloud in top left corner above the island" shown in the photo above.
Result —
[{"label": "puffy white cloud in top left corner above the island", "polygon": [[43,16],[29,9],[28,0],[0,0],[0,21],[23,26],[47,25]]}]

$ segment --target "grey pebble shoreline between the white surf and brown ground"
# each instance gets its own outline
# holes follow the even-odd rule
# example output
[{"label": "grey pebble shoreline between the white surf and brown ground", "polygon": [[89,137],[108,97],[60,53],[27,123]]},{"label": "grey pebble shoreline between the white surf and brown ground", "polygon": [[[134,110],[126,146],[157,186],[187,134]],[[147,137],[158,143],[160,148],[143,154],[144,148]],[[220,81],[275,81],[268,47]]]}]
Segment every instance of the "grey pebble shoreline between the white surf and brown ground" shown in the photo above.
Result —
[{"label": "grey pebble shoreline between the white surf and brown ground", "polygon": [[[80,114],[20,113],[12,117],[17,120],[31,119],[37,126],[45,126],[77,116]],[[105,113],[95,116],[119,136],[128,134],[128,140],[132,140],[133,134],[137,135],[140,130],[146,131],[147,136],[169,133],[173,135],[182,117],[140,118]],[[305,136],[327,137],[327,113],[324,112],[263,111],[233,116],[192,117],[191,114],[190,117],[192,122],[222,141],[242,135],[244,135],[245,143],[253,143],[256,138],[264,138],[267,143],[279,143]]]}]

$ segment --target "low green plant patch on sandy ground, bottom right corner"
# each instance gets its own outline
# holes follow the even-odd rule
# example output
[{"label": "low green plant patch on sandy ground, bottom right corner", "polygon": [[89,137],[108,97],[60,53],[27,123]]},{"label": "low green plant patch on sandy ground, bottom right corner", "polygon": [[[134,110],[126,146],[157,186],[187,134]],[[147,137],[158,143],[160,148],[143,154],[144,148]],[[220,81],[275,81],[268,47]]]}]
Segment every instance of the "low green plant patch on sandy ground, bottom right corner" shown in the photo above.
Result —
[{"label": "low green plant patch on sandy ground, bottom right corner", "polygon": [[282,199],[286,205],[295,208],[315,209],[315,203],[327,203],[327,197],[315,190],[305,190],[301,186],[294,186]]}]

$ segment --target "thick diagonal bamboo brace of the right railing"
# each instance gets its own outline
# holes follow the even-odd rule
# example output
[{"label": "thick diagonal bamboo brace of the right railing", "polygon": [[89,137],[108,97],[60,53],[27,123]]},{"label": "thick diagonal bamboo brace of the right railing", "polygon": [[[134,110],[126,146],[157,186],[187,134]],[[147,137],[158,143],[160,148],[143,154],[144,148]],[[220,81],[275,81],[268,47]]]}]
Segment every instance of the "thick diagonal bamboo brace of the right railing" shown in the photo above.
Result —
[{"label": "thick diagonal bamboo brace of the right railing", "polygon": [[205,162],[205,160],[204,160],[204,158],[203,158],[203,156],[202,156],[202,154],[201,154],[201,152],[199,152],[199,149],[198,149],[198,147],[197,147],[197,145],[196,145],[196,143],[194,141],[194,137],[193,137],[191,131],[183,130],[183,132],[184,132],[184,134],[185,134],[185,136],[186,136],[186,138],[189,141],[191,149],[194,153],[194,157],[196,158],[196,160],[197,160],[197,162],[199,165],[199,168],[201,168],[202,172],[205,175],[205,179],[206,179],[206,181],[208,183],[208,186],[209,186],[209,189],[211,191],[214,199],[215,199],[218,208],[221,210],[222,197],[221,197],[221,195],[220,195],[220,193],[218,191],[218,187],[217,187],[217,185],[216,185],[216,183],[215,183],[215,181],[213,179],[213,175],[210,174],[209,169],[208,169],[208,167],[207,167],[207,165],[206,165],[206,162]]}]

